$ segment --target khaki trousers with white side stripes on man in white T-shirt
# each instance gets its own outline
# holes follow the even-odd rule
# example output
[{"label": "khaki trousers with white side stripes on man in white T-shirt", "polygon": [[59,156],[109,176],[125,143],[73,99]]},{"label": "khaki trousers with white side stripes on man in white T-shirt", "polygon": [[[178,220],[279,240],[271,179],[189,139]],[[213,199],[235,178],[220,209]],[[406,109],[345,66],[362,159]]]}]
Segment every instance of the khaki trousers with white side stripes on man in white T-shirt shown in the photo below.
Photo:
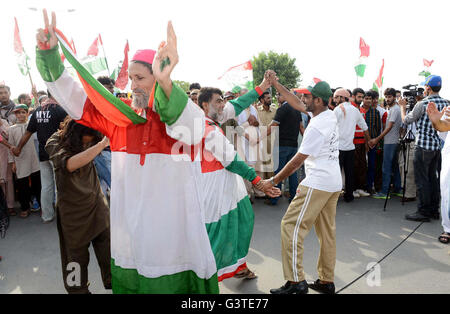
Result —
[{"label": "khaki trousers with white side stripes on man in white T-shirt", "polygon": [[319,279],[334,281],[336,265],[336,205],[340,192],[325,192],[299,185],[297,195],[281,221],[281,247],[284,278],[305,280],[303,242],[314,226],[320,243],[317,264]]}]

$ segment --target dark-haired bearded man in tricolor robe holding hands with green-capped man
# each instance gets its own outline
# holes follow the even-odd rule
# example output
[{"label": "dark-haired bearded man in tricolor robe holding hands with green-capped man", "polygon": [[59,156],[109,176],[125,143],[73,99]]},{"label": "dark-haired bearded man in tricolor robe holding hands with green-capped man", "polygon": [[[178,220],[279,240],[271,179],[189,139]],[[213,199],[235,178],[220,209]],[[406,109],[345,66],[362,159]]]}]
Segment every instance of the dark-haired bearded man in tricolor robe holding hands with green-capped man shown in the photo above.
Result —
[{"label": "dark-haired bearded man in tricolor robe holding hands with green-capped man", "polygon": [[[198,96],[198,103],[206,115],[200,176],[205,223],[216,258],[219,281],[233,276],[256,278],[246,264],[254,213],[243,179],[262,190],[261,178],[256,175],[255,169],[239,158],[219,123],[238,116],[269,87],[270,83],[265,79],[260,86],[226,103],[217,88],[202,88]],[[281,194],[274,187],[263,192],[270,197]]]}]

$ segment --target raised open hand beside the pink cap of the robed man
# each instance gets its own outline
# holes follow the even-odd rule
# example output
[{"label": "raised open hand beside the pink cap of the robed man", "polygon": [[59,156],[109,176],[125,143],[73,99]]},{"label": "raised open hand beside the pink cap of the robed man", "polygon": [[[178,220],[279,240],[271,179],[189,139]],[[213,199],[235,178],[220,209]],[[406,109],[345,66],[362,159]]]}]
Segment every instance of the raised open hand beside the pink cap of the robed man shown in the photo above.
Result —
[{"label": "raised open hand beside the pink cap of the robed man", "polygon": [[[167,24],[167,42],[159,45],[158,53],[153,61],[153,75],[163,88],[163,84],[171,84],[170,74],[178,63],[177,36],[172,22]],[[167,95],[169,96],[169,95]]]}]

